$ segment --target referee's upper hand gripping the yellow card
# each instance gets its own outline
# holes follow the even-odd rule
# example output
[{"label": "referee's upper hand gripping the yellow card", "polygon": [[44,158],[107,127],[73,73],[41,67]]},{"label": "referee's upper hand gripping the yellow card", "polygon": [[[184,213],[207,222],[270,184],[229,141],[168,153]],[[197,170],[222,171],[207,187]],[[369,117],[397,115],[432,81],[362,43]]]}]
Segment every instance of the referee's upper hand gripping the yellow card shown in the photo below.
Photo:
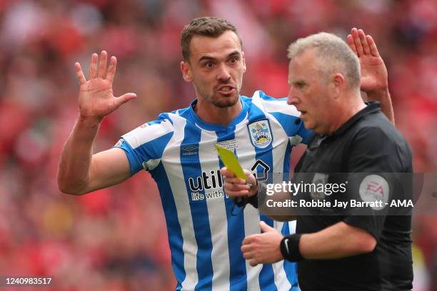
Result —
[{"label": "referee's upper hand gripping the yellow card", "polygon": [[220,169],[221,175],[224,177],[223,189],[226,194],[234,197],[246,197],[256,194],[256,178],[248,170],[243,170],[247,176],[246,180],[236,178],[235,174],[226,167]]}]

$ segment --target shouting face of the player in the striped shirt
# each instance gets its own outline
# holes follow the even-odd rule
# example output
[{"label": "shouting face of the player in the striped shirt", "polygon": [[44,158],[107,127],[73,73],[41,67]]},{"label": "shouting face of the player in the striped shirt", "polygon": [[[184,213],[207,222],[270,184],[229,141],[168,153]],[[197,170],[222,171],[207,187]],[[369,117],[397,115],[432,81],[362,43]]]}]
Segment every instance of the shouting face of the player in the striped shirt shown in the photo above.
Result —
[{"label": "shouting face of the player in the striped shirt", "polygon": [[182,62],[181,70],[184,79],[193,83],[198,98],[220,108],[235,105],[246,71],[238,36],[233,31],[217,38],[194,36],[190,51],[190,61]]}]

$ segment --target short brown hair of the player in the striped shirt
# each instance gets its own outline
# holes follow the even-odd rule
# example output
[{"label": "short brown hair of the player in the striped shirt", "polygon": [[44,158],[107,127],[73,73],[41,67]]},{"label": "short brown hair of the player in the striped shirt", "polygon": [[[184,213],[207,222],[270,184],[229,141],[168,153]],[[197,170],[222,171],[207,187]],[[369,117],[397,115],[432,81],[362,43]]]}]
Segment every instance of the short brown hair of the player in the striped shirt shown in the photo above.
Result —
[{"label": "short brown hair of the player in the striped shirt", "polygon": [[[189,24],[184,26],[181,32],[181,48],[184,60],[189,61],[191,54],[190,43],[193,36],[218,37],[225,31],[233,31],[238,36],[236,27],[226,19],[220,17],[199,17],[193,19]],[[240,36],[238,36],[238,39],[240,39],[241,47],[243,47]]]}]

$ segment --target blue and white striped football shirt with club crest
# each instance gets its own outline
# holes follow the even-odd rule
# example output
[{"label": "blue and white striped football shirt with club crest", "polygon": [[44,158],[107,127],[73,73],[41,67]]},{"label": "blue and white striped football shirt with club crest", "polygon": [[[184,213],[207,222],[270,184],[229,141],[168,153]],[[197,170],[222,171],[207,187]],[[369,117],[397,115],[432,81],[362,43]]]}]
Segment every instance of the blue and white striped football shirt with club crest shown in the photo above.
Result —
[{"label": "blue and white striped football shirt with club crest", "polygon": [[251,267],[240,250],[243,238],[260,233],[260,220],[284,235],[294,232],[294,224],[274,222],[252,205],[231,215],[233,200],[223,193],[218,171],[223,163],[214,145],[234,150],[243,168],[272,182],[271,173],[289,172],[292,146],[307,143],[311,131],[302,122],[296,125],[300,113],[285,98],[271,98],[262,91],[252,98],[241,96],[243,109],[228,126],[202,121],[194,113],[194,103],[160,114],[157,121],[126,133],[116,144],[126,151],[132,175],[145,169],[156,180],[176,290],[294,290],[295,264]]}]

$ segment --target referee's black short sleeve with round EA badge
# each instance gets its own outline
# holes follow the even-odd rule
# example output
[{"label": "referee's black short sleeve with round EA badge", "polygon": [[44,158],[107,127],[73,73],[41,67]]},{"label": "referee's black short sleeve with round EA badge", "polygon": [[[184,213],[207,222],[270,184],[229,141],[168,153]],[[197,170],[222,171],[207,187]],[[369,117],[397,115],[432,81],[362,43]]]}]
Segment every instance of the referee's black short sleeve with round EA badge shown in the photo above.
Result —
[{"label": "referee's black short sleeve with round EA badge", "polygon": [[368,206],[366,215],[361,212],[364,208],[350,208],[351,214],[343,222],[366,230],[378,240],[389,203],[398,190],[396,171],[400,171],[401,162],[396,155],[396,143],[381,128],[363,128],[345,155],[348,157],[347,200],[380,202]]}]

